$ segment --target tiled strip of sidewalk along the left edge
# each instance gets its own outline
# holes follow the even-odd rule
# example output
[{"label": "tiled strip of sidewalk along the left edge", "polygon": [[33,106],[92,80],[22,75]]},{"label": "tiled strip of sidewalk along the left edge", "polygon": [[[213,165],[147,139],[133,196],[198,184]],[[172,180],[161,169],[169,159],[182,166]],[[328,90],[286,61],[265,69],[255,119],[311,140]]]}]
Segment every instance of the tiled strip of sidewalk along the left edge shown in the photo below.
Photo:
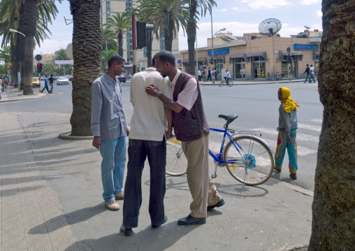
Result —
[{"label": "tiled strip of sidewalk along the left edge", "polygon": [[0,128],[0,250],[80,250],[17,115],[2,113]]}]

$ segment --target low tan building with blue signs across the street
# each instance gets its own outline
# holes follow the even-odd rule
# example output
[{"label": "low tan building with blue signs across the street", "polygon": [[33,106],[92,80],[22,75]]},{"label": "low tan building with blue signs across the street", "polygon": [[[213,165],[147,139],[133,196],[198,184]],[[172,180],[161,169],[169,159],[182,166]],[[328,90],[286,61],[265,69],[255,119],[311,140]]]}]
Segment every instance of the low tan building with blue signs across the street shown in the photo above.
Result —
[{"label": "low tan building with blue signs across the street", "polygon": [[[254,38],[250,40],[249,38]],[[198,68],[215,67],[218,79],[229,70],[235,80],[269,80],[274,73],[283,78],[304,78],[306,64],[315,69],[319,64],[319,47],[321,37],[282,38],[280,36],[259,36],[244,34],[243,40],[222,45],[214,45],[215,64],[209,64],[212,47],[198,48]],[[287,52],[290,48],[290,52]],[[182,55],[183,71],[189,71],[189,53]],[[292,62],[287,62],[288,54]],[[290,73],[290,74],[289,74]]]}]

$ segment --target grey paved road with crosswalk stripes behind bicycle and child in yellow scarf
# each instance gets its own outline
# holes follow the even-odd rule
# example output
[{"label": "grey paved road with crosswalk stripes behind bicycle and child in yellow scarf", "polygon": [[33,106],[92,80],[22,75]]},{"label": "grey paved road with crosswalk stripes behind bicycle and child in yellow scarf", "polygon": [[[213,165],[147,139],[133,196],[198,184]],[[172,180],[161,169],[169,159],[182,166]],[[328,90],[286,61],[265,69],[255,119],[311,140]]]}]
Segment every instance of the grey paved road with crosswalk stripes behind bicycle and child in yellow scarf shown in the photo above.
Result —
[{"label": "grey paved road with crosswalk stripes behind bicycle and child in yellow scarf", "polygon": [[[122,83],[124,108],[128,118],[133,114],[133,106],[129,103],[129,86],[130,83]],[[231,124],[230,128],[236,128],[240,131],[261,131],[263,133],[261,138],[275,150],[278,107],[280,105],[280,101],[277,100],[277,89],[281,86],[289,87],[291,97],[300,105],[296,140],[298,143],[299,170],[298,180],[291,180],[287,170],[288,159],[286,156],[281,175],[274,173],[273,178],[291,182],[313,191],[323,111],[323,106],[319,101],[317,84],[300,82],[234,85],[233,87],[202,85],[201,92],[206,117],[210,127],[222,129],[224,121],[218,117],[219,114],[238,114],[238,119]],[[72,113],[71,89],[71,85],[55,85],[52,95],[47,95],[41,99],[3,103],[0,112],[1,110],[8,110],[13,112]],[[37,89],[34,89],[34,92],[36,91]],[[220,144],[220,135],[211,133],[210,141],[214,144]],[[220,168],[218,173],[221,172],[227,171]]]}]

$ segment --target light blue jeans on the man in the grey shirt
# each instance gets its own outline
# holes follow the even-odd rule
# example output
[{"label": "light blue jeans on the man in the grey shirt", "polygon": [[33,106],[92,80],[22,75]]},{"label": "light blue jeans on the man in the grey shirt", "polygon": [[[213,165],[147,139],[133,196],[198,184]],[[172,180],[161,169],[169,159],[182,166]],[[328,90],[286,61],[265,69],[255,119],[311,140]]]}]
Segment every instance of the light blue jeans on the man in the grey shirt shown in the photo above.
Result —
[{"label": "light blue jeans on the man in the grey shirt", "polygon": [[126,136],[101,141],[102,196],[105,201],[114,200],[114,194],[122,192],[124,167],[126,166],[126,142]]}]

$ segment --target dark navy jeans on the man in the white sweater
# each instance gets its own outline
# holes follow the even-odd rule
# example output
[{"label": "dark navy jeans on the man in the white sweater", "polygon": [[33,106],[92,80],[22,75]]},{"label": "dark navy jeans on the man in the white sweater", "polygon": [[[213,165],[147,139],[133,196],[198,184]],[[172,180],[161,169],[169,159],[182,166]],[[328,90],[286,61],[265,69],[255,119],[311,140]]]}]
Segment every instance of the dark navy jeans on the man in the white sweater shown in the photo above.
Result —
[{"label": "dark navy jeans on the man in the white sweater", "polygon": [[126,183],[124,185],[123,225],[138,227],[138,215],[142,204],[142,172],[145,159],[150,166],[149,213],[152,224],[164,221],[166,141],[142,141],[129,139]]}]

